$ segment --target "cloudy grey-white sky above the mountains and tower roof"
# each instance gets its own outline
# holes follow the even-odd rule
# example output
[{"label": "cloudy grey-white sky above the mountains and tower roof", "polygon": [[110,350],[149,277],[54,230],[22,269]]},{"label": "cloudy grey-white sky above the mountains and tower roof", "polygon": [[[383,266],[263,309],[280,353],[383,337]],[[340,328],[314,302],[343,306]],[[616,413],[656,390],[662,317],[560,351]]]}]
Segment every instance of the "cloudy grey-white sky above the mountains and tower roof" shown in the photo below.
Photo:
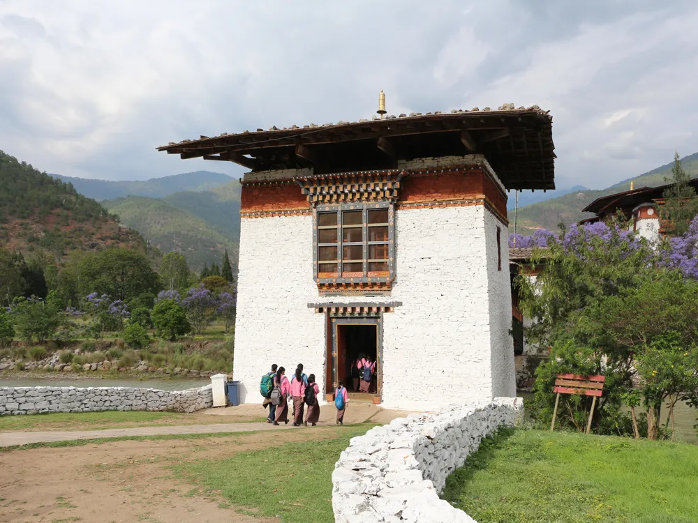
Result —
[{"label": "cloudy grey-white sky above the mountains and tower roof", "polygon": [[389,114],[537,104],[558,188],[698,151],[695,0],[0,0],[0,149],[148,179],[228,162],[170,141]]}]

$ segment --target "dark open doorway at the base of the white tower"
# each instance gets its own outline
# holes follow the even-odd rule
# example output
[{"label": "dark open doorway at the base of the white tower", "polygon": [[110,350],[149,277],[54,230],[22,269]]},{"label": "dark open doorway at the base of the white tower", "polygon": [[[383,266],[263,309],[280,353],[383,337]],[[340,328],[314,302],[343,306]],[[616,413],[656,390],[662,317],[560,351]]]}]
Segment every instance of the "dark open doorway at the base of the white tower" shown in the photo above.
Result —
[{"label": "dark open doorway at the base of the white tower", "polygon": [[[359,391],[357,372],[352,376],[352,364],[361,357],[378,361],[378,326],[375,324],[339,324],[337,326],[337,356],[339,367],[339,379],[341,379],[349,391]],[[378,365],[371,380],[370,393],[376,392],[376,375]]]}]

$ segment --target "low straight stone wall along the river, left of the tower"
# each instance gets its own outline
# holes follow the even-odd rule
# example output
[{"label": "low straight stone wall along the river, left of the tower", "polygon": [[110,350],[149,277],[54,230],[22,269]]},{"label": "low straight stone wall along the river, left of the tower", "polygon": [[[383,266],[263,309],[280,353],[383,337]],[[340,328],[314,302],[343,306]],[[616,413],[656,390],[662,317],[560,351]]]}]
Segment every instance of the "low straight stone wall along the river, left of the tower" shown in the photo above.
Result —
[{"label": "low straight stone wall along the river, left of the tower", "polygon": [[194,412],[213,405],[211,386],[186,391],[133,387],[0,387],[0,416],[49,412]]}]

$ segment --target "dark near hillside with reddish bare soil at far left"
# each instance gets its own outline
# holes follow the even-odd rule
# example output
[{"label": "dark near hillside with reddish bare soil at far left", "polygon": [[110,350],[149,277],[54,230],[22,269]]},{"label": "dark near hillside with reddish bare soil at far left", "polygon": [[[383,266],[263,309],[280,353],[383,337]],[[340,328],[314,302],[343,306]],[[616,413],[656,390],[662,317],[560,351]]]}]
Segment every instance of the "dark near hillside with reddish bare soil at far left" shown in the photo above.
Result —
[{"label": "dark near hillside with reddish bare soil at far left", "polygon": [[61,259],[71,250],[108,246],[146,250],[138,232],[94,199],[0,151],[0,247]]}]

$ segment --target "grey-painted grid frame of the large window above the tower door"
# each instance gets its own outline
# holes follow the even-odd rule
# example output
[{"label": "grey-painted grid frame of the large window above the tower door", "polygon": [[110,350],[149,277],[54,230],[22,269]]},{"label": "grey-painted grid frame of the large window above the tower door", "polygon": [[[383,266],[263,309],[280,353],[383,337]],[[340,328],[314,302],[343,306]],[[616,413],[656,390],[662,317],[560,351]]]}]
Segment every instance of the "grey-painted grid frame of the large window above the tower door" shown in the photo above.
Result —
[{"label": "grey-painted grid frame of the large window above the tower door", "polygon": [[[371,210],[382,210],[387,209],[388,211],[388,238],[387,241],[369,241],[369,229],[371,227],[385,227],[385,223],[380,224],[370,224],[369,223],[369,211]],[[361,211],[362,212],[362,223],[359,226],[356,225],[343,225],[343,218],[345,212],[351,211]],[[334,225],[324,226],[320,225],[320,215],[323,213],[337,213],[337,236],[336,243],[320,243],[320,230],[333,229]],[[395,209],[392,202],[354,202],[348,204],[334,204],[334,205],[323,205],[318,204],[313,209],[313,278],[315,282],[320,283],[373,283],[373,282],[392,282],[395,278]],[[343,241],[343,229],[347,228],[361,228],[362,229],[362,241],[360,242],[344,242]],[[344,261],[343,251],[345,246],[362,246],[362,259],[354,261]],[[371,245],[387,245],[388,247],[388,257],[387,259],[369,259],[369,247]],[[320,260],[320,248],[322,247],[332,247],[337,248],[337,259],[336,265],[330,263],[322,263]],[[343,264],[345,263],[359,263],[363,264],[362,274],[359,275],[347,275],[343,276]],[[387,261],[388,270],[387,275],[369,275],[369,264],[380,263],[381,261]],[[332,266],[334,265],[335,272],[329,273],[328,271],[321,271],[322,266]],[[376,271],[377,272],[377,271]],[[384,272],[384,271],[380,271]],[[322,277],[321,277],[322,275]]]}]

